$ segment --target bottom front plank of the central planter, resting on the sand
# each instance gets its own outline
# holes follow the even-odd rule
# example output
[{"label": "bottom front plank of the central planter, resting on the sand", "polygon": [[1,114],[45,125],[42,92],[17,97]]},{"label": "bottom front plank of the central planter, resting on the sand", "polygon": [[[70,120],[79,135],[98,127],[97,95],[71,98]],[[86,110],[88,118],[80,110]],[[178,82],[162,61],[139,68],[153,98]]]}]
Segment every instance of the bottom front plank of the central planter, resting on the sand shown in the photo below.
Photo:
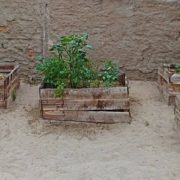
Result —
[{"label": "bottom front plank of the central planter, resting on the sand", "polygon": [[129,123],[129,112],[107,111],[57,111],[43,112],[43,118],[55,121],[75,121],[89,123]]}]

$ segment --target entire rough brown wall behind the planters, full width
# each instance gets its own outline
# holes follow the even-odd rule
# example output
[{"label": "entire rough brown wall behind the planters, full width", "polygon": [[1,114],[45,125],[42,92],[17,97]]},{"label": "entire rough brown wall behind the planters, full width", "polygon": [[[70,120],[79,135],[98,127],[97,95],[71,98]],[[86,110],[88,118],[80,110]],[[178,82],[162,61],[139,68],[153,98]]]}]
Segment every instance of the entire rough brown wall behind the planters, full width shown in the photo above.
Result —
[{"label": "entire rough brown wall behind the planters, full width", "polygon": [[[0,0],[2,1],[2,0]],[[180,62],[179,0],[46,0],[1,3],[0,60],[34,74],[34,57],[57,36],[87,32],[98,64],[112,59],[132,78],[153,78],[159,64]],[[47,6],[45,5],[47,4]]]}]

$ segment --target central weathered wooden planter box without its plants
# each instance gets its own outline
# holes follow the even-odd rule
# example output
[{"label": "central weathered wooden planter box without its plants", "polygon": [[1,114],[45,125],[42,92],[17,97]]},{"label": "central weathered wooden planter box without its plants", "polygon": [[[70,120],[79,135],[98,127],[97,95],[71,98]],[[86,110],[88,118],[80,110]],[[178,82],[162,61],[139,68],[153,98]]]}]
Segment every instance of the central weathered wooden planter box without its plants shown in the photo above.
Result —
[{"label": "central weathered wooden planter box without its plants", "polygon": [[39,89],[41,117],[49,121],[89,123],[130,122],[128,86],[66,89],[63,98],[54,89]]}]

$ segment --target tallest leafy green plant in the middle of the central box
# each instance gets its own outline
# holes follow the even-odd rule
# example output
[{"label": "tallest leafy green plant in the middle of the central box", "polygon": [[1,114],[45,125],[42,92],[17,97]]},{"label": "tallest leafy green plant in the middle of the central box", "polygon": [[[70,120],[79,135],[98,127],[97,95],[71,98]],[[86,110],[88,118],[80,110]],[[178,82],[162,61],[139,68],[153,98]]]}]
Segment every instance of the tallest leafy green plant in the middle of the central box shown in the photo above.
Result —
[{"label": "tallest leafy green plant in the middle of the central box", "polygon": [[88,85],[94,74],[86,57],[87,50],[92,49],[87,40],[87,34],[64,36],[51,48],[60,61],[67,63],[68,79],[72,88],[80,88],[85,82]]}]

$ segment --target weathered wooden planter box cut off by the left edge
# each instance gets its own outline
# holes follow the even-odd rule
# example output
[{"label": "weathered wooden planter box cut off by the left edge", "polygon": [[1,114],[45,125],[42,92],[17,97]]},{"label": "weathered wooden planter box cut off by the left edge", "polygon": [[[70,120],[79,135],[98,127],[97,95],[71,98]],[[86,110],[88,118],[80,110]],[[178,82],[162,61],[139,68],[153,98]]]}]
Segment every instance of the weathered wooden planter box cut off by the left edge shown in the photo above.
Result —
[{"label": "weathered wooden planter box cut off by the left edge", "polygon": [[12,101],[12,93],[20,86],[19,66],[0,65],[0,107],[7,108]]}]

